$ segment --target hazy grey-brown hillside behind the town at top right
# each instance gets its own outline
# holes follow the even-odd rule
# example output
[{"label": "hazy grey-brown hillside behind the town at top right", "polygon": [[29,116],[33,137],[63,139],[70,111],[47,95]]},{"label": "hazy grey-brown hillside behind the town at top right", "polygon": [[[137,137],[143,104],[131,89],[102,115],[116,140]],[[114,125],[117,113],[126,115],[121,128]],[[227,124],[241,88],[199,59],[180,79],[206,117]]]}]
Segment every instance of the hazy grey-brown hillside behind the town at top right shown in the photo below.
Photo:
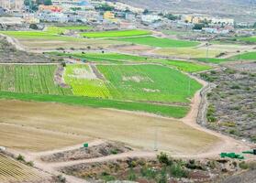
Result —
[{"label": "hazy grey-brown hillside behind the town at top right", "polygon": [[109,0],[152,10],[235,17],[256,22],[256,0]]}]

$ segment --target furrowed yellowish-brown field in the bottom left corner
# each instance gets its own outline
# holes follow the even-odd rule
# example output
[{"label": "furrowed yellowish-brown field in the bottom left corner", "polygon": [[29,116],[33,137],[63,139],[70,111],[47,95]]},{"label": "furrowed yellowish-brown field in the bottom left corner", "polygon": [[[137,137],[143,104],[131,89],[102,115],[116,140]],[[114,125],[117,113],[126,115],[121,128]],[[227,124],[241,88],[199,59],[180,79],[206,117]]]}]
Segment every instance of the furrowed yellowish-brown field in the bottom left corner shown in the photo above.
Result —
[{"label": "furrowed yellowish-brown field in the bottom left corner", "polygon": [[0,154],[0,182],[33,182],[42,178],[39,173],[13,159]]}]

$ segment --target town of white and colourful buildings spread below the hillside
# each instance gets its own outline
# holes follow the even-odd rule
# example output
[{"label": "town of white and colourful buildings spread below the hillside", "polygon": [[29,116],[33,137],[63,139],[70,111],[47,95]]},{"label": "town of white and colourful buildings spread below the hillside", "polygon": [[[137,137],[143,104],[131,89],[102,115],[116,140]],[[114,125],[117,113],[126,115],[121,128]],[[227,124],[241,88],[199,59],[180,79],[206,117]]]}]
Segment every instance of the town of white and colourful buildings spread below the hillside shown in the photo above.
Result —
[{"label": "town of white and colourful buildings spread below the hillside", "polygon": [[[32,1],[34,4],[37,3],[36,0]],[[51,5],[39,5],[36,10],[29,5],[24,5],[24,0],[0,0],[0,15],[5,11],[20,12],[18,17],[22,17],[23,22],[27,24],[71,22],[95,24],[103,29],[111,26],[155,29],[167,27],[195,29],[208,34],[228,34],[235,25],[234,19],[231,18],[150,12],[123,3],[102,0],[51,0]],[[195,28],[196,25],[203,26]]]}]

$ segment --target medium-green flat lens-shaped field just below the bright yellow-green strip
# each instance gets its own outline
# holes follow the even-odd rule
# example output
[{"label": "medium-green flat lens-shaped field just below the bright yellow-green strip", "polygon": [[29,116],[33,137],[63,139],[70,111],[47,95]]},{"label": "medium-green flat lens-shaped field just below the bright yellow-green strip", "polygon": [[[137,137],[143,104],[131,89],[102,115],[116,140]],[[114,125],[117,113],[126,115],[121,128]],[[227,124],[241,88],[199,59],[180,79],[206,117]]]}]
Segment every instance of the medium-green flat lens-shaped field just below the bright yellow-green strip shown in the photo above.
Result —
[{"label": "medium-green flat lens-shaped field just below the bright yellow-green strip", "polygon": [[147,45],[158,48],[187,48],[199,45],[199,42],[177,40],[170,38],[139,37],[139,38],[115,38],[118,41],[130,42],[138,45]]}]

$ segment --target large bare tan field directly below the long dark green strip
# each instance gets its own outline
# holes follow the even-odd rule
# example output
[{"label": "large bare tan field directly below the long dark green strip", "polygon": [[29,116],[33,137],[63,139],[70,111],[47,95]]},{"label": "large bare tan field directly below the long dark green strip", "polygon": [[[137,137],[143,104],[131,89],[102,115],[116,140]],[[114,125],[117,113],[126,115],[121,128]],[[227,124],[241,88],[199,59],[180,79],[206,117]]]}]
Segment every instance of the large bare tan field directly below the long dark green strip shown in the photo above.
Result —
[{"label": "large bare tan field directly below the long dark green strip", "polygon": [[[100,137],[149,150],[153,149],[155,134],[157,134],[159,149],[172,152],[173,155],[205,152],[219,143],[216,136],[195,130],[180,121],[140,113],[18,101],[1,101],[0,111],[0,121],[7,124]],[[24,143],[31,143],[28,140],[30,134],[25,135],[27,142]],[[1,142],[2,139],[0,138],[0,145],[10,141],[9,137],[4,142]],[[56,145],[61,145],[59,140],[56,140],[56,143],[44,145],[44,148],[50,149]]]}]

